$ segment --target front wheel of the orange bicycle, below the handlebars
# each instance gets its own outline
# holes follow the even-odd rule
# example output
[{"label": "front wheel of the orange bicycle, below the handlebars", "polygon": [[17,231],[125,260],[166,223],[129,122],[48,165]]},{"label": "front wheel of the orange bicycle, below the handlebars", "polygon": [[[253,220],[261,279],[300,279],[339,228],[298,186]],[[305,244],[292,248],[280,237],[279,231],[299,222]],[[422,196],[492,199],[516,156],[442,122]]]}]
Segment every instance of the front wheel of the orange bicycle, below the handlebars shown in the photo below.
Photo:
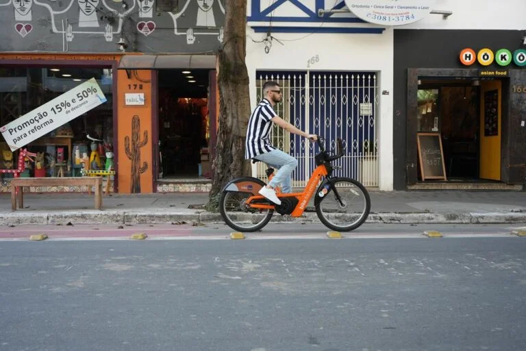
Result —
[{"label": "front wheel of the orange bicycle, below the handlebars", "polygon": [[318,218],[325,226],[349,232],[367,219],[371,210],[371,198],[357,180],[338,177],[321,184],[314,205]]}]

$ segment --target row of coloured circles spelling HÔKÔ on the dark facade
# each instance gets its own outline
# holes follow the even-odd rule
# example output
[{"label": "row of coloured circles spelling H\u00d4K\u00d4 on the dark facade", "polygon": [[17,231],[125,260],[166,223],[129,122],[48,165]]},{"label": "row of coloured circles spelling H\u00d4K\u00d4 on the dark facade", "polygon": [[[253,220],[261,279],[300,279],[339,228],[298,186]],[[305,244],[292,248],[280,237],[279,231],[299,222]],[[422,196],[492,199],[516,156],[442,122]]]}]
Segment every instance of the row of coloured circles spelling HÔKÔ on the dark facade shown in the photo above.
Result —
[{"label": "row of coloured circles spelling H\u00d4K\u00d4 on the dark facade", "polygon": [[460,51],[460,62],[465,66],[471,66],[478,61],[482,66],[489,66],[494,61],[499,66],[508,66],[512,61],[519,67],[526,66],[526,49],[516,49],[513,53],[508,49],[499,49],[493,53],[491,49],[480,49],[478,53],[475,50],[466,47]]}]

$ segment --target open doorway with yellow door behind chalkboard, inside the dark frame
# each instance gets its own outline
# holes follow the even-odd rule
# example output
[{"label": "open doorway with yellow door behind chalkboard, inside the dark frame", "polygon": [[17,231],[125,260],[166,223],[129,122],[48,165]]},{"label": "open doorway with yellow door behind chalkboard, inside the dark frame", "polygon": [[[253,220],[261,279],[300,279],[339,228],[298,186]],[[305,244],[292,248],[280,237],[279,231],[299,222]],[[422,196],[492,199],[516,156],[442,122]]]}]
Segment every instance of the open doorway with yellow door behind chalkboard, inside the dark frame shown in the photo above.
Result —
[{"label": "open doorway with yellow door behind chalkboard, inside the dark frame", "polygon": [[418,133],[440,135],[449,182],[501,180],[501,86],[478,77],[419,77]]}]

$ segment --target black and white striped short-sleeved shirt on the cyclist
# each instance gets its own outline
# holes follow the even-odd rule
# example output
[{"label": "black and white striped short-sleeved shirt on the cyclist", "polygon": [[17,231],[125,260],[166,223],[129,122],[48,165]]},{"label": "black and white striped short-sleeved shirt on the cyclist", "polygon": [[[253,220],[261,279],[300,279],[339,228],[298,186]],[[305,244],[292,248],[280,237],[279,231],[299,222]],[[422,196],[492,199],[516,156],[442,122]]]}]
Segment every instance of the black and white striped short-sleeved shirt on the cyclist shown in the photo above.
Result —
[{"label": "black and white striped short-sleeved shirt on the cyclist", "polygon": [[247,140],[245,141],[245,159],[249,160],[260,154],[271,152],[276,148],[272,146],[268,135],[271,133],[272,121],[277,114],[274,112],[270,101],[262,99],[249,119]]}]

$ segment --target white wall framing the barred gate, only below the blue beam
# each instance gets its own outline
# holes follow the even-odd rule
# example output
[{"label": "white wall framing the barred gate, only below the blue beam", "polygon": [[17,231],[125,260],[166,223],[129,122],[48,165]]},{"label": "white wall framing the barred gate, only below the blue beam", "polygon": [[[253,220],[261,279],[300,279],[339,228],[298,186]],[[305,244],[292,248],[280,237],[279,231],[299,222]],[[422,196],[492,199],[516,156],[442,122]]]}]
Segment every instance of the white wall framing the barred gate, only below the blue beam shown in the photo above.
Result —
[{"label": "white wall framing the barred gate, only below the blue beam", "polygon": [[[311,70],[377,71],[379,74],[378,155],[379,189],[392,190],[392,29],[383,34],[273,34],[284,45],[274,41],[271,51],[264,52],[263,34],[247,29],[247,69],[249,71],[250,98],[255,106],[256,70],[308,70],[307,61],[318,55],[320,60]],[[298,40],[299,39],[299,40]],[[285,41],[294,40],[294,41]],[[389,95],[381,95],[388,90]]]}]

